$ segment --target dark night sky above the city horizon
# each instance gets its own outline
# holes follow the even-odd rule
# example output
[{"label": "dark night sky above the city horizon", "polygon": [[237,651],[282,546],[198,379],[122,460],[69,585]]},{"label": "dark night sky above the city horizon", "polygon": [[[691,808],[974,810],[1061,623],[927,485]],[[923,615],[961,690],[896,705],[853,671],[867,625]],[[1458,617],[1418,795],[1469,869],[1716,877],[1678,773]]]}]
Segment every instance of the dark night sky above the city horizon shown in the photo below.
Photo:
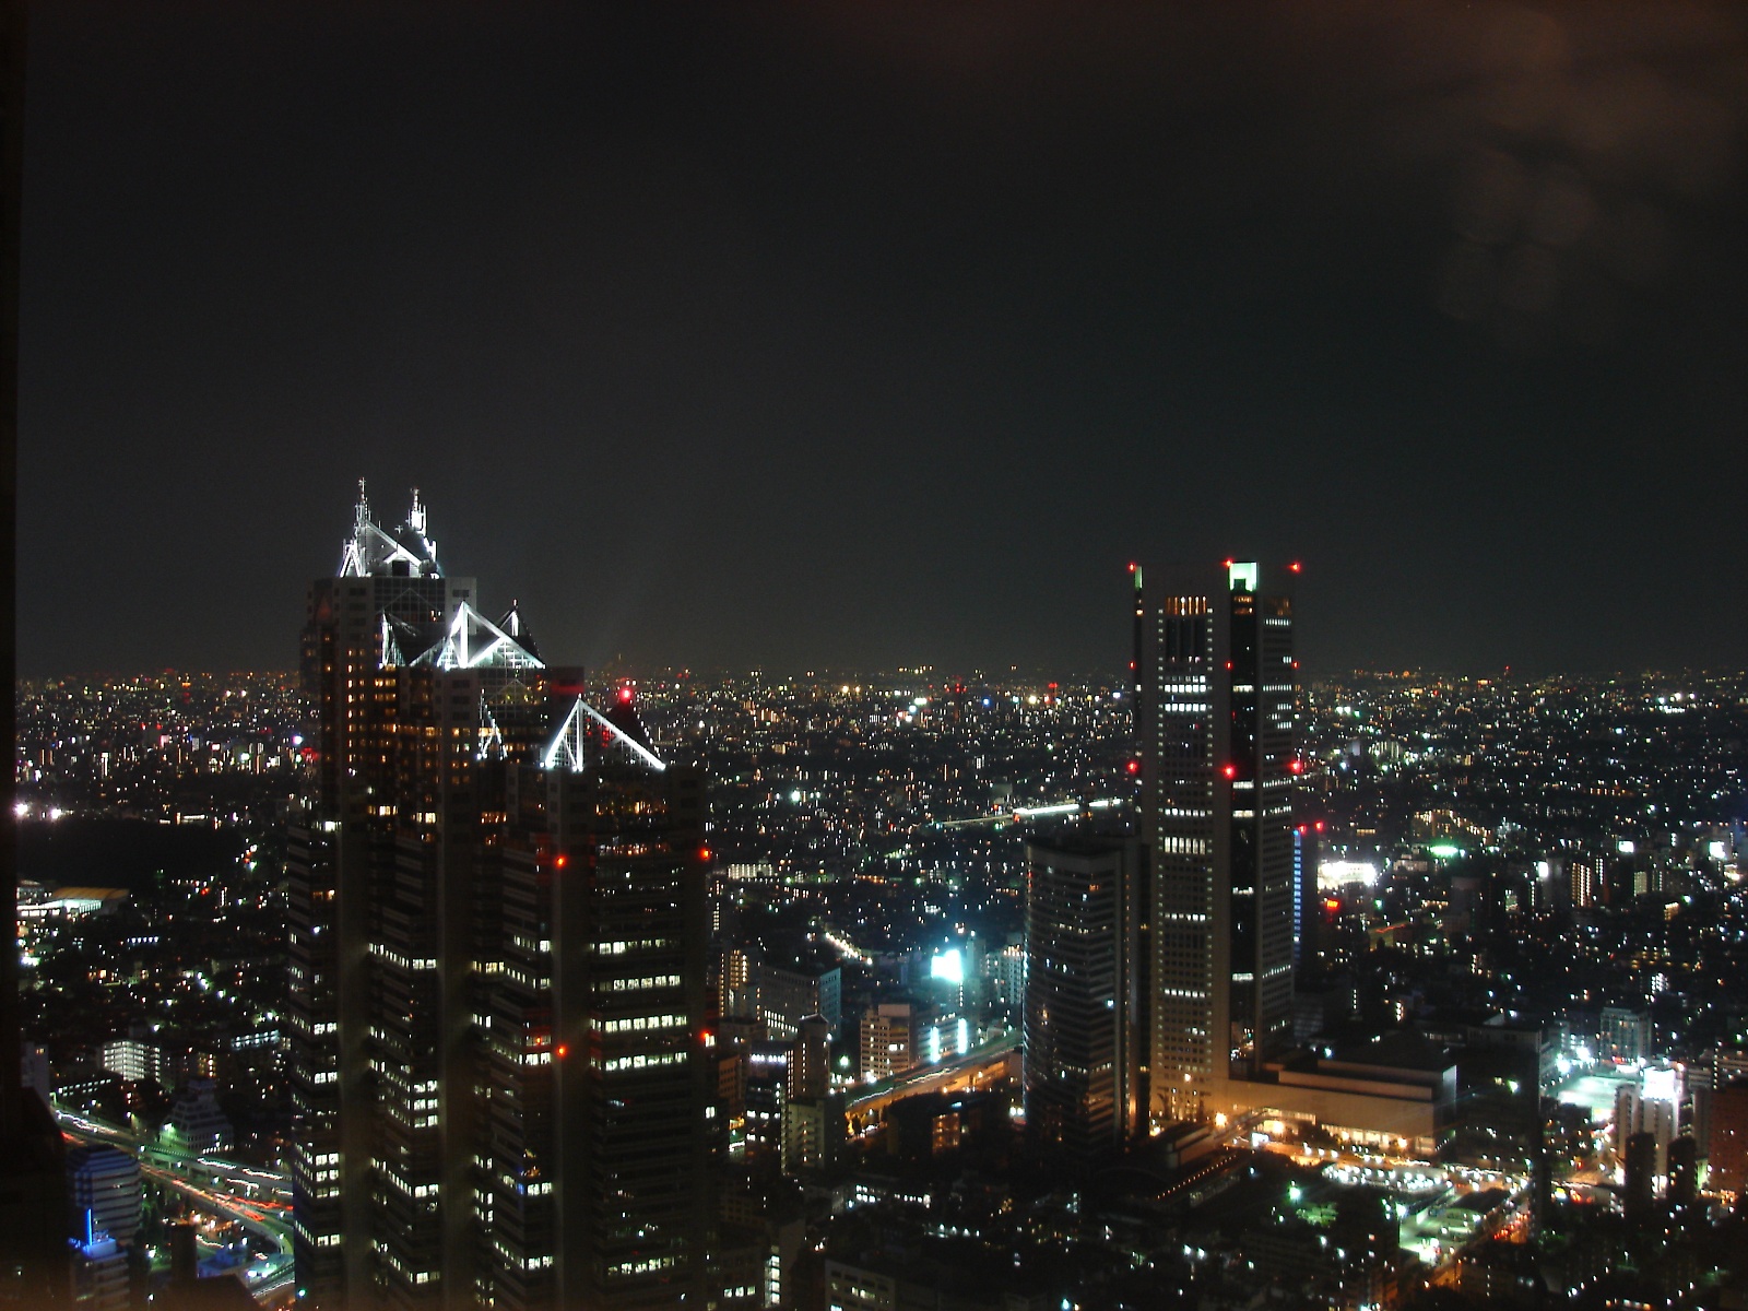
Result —
[{"label": "dark night sky above the city horizon", "polygon": [[1739,5],[33,9],[24,675],[292,668],[360,475],[556,662],[1748,662]]}]

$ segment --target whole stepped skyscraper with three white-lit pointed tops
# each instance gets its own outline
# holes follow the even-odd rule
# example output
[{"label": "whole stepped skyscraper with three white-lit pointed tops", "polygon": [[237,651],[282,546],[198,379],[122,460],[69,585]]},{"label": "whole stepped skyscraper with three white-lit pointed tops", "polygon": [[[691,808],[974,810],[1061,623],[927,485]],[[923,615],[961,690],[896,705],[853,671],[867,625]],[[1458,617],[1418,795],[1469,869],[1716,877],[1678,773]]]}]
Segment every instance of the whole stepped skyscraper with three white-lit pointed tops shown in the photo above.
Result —
[{"label": "whole stepped skyscraper with three white-lit pointed tops", "polygon": [[[703,781],[360,486],[288,834],[306,1304],[668,1306],[706,1220]],[[633,1110],[635,1108],[635,1115]],[[568,1182],[568,1187],[565,1187]]]}]

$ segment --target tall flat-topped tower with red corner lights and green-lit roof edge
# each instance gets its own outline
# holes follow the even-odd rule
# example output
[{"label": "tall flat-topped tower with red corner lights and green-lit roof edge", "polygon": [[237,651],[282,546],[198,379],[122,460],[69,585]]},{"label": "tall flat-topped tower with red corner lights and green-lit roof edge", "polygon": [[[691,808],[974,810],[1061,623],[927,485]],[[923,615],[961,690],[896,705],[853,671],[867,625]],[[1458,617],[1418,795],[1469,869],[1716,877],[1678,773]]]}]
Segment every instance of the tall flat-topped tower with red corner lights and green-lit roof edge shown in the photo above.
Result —
[{"label": "tall flat-topped tower with red corner lights and green-lit roof edge", "polygon": [[1292,573],[1131,568],[1148,1106],[1197,1117],[1292,1042]]}]

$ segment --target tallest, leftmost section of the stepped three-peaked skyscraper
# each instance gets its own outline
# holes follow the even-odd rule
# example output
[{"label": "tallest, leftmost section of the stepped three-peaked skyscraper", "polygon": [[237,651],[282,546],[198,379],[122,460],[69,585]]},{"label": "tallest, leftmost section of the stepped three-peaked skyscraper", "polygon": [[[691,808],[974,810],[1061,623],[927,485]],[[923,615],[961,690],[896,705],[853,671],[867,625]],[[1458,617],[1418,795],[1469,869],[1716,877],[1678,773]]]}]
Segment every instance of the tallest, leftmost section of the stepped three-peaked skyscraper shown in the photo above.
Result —
[{"label": "tallest, leftmost section of the stepped three-peaked skyscraper", "polygon": [[390,531],[360,481],[339,570],[309,586],[309,787],[287,832],[292,1241],[313,1308],[367,1306],[378,1255],[372,939],[393,867],[397,669],[407,647],[435,647],[451,607],[470,598],[472,582],[437,565],[418,495]]}]

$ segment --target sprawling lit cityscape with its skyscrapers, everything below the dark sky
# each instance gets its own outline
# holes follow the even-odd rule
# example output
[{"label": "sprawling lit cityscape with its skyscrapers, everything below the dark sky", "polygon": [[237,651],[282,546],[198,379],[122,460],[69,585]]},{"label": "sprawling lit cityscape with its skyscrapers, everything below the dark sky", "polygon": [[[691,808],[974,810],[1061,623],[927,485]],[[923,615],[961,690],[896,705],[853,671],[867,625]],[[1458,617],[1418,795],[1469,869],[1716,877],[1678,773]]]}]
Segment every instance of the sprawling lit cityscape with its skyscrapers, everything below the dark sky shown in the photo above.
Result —
[{"label": "sprawling lit cityscape with its skyscrapers, everything below the dark sky", "polygon": [[[1292,570],[1147,565],[1131,685],[668,680],[633,722],[596,675],[633,734],[615,771],[575,675],[540,662],[558,652],[439,570],[442,516],[372,505],[311,587],[313,696],[175,675],[19,704],[26,1086],[119,1148],[126,1194],[100,1208],[68,1171],[93,1197],[80,1287],[119,1306],[128,1269],[166,1295],[198,1269],[239,1304],[563,1306],[617,1245],[608,1283],[671,1306],[659,1281],[699,1250],[673,1222],[711,1192],[692,1273],[734,1311],[916,1290],[1122,1311],[1210,1281],[1248,1304],[1281,1280],[1316,1308],[1433,1285],[1491,1306],[1526,1262],[1601,1306],[1685,1288],[1692,1260],[1739,1278],[1717,1180],[1739,1176],[1748,1091],[1741,675],[1356,678],[1304,699],[1301,736],[1276,682]],[[1288,809],[1316,839],[1285,851]],[[101,830],[163,841],[122,879]],[[1287,877],[1309,900],[1290,944],[1260,923],[1290,914]],[[1189,956],[1211,979],[1159,940],[1208,895],[1217,942]],[[1271,937],[1295,975],[1273,1042],[1281,1010],[1252,993],[1283,977]],[[1213,1054],[1248,1077],[1206,1080],[1210,1117],[1148,1115],[1124,1148],[1136,1084],[1175,1056],[1136,1051],[1134,984],[1155,1038],[1145,1012],[1197,988],[1231,1019],[1253,995],[1259,1023],[1252,1052],[1241,1021]],[[708,1169],[675,1175],[656,1138],[708,1138]],[[579,1217],[575,1182],[607,1178]],[[1661,1264],[1610,1273],[1580,1241]],[[357,1266],[343,1302],[322,1253]]]}]

